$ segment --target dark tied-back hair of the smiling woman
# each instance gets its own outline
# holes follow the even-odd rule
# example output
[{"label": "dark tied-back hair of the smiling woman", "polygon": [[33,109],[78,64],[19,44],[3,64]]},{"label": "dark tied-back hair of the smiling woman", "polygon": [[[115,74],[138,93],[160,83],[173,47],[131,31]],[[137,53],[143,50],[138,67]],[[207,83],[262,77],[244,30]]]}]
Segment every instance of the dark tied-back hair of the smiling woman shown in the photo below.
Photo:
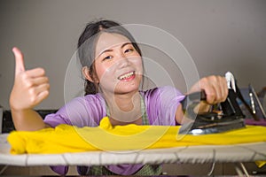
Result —
[{"label": "dark tied-back hair of the smiling woman", "polygon": [[[98,42],[98,36],[101,32],[106,33],[115,33],[119,35],[123,35],[132,42],[133,47],[137,50],[140,56],[142,56],[141,50],[139,49],[137,42],[134,37],[129,33],[129,31],[122,27],[121,24],[114,22],[113,20],[101,19],[98,21],[92,21],[87,24],[82,35],[79,37],[78,45],[77,45],[77,54],[80,62],[83,66],[87,66],[89,68],[90,77],[95,78],[95,48]],[[89,80],[85,80],[85,95],[96,94],[98,93],[98,84],[95,82],[91,82]]]}]

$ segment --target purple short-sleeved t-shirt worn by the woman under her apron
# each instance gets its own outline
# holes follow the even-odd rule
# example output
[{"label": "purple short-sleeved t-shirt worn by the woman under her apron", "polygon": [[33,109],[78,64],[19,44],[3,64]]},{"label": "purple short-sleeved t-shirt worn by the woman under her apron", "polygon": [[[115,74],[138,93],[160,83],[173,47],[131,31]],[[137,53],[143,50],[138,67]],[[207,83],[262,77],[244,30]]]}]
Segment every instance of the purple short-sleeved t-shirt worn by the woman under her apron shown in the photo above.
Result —
[{"label": "purple short-sleeved t-shirt worn by the woman under her apron", "polygon": [[[140,91],[144,98],[147,119],[150,125],[175,126],[176,108],[184,99],[184,95],[177,89],[165,86],[146,91]],[[106,101],[101,94],[87,95],[74,98],[71,102],[49,114],[44,122],[51,127],[59,124],[77,127],[97,127],[101,119],[106,117]],[[113,173],[130,175],[136,173],[143,165],[106,165]],[[61,169],[62,168],[62,169]],[[63,166],[55,170],[64,174],[67,168]],[[61,170],[60,170],[61,169]],[[64,172],[63,172],[64,171]]]}]

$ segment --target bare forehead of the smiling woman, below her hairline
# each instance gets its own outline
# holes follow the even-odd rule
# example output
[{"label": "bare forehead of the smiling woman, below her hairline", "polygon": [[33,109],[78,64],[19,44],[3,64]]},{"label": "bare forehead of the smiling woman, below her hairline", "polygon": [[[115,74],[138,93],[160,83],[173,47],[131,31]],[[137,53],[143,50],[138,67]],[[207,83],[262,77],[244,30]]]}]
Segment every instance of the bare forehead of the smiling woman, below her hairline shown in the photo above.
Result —
[{"label": "bare forehead of the smiling woman, below her hairline", "polygon": [[103,33],[98,37],[96,44],[96,55],[104,50],[110,50],[114,47],[120,46],[125,42],[130,42],[129,39],[123,35],[114,33]]}]

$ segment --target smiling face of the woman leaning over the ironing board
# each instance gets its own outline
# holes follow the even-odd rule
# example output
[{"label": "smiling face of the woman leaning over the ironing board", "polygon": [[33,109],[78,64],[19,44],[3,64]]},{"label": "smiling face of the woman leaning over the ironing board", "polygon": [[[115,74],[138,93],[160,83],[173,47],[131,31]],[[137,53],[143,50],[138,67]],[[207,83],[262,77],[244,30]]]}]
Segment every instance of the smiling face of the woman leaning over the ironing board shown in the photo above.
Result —
[{"label": "smiling face of the woman leaning over the ironing board", "polygon": [[123,35],[103,33],[99,36],[95,68],[103,92],[136,92],[142,80],[142,58]]}]

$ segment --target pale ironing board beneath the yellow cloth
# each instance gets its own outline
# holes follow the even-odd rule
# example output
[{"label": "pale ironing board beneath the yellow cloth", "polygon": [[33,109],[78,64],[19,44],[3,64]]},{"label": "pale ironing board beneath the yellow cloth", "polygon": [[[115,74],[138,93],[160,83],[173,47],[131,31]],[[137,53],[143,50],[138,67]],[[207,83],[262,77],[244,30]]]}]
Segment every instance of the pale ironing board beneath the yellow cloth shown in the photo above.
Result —
[{"label": "pale ironing board beneath the yellow cloth", "polygon": [[203,164],[266,160],[266,142],[234,145],[184,146],[137,151],[88,151],[62,154],[10,154],[8,134],[0,135],[0,165],[119,165],[119,164]]}]

